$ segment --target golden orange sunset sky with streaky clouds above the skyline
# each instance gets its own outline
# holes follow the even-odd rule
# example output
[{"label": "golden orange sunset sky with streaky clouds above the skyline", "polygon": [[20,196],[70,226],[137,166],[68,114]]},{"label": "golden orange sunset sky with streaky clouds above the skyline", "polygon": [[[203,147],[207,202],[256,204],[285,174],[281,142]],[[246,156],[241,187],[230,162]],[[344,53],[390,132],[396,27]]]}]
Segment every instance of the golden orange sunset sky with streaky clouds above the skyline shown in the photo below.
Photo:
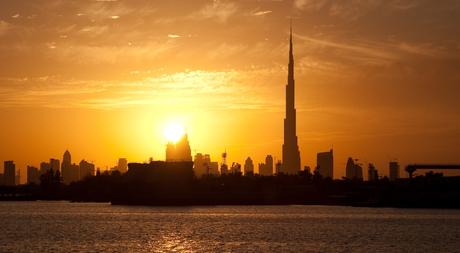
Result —
[{"label": "golden orange sunset sky with streaky clouds above the skyline", "polygon": [[2,0],[0,160],[278,160],[291,18],[302,166],[460,163],[456,0]]}]

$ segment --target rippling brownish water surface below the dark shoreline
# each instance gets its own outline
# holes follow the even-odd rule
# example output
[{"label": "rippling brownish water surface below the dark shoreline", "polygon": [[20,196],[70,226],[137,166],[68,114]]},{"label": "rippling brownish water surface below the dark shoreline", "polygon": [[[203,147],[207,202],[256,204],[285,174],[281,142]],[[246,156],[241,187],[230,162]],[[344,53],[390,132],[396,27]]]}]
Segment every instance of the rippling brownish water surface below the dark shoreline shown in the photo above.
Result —
[{"label": "rippling brownish water surface below the dark shoreline", "polygon": [[460,210],[0,202],[0,252],[460,252]]}]

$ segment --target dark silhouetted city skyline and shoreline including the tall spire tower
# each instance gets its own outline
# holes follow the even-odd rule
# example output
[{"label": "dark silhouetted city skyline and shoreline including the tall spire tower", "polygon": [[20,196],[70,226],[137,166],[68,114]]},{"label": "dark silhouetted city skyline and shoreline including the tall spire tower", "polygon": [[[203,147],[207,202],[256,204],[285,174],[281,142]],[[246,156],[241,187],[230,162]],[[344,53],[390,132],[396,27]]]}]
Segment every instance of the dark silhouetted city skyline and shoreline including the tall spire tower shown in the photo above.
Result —
[{"label": "dark silhouetted city skyline and shoreline including the tall spire tower", "polygon": [[[286,118],[282,161],[271,155],[258,164],[248,157],[242,166],[227,164],[227,152],[219,163],[209,154],[192,158],[188,135],[166,146],[166,161],[151,159],[118,165],[101,172],[91,162],[72,163],[68,150],[62,163],[51,158],[39,168],[27,168],[27,185],[18,185],[13,161],[4,162],[0,176],[0,200],[97,201],[126,205],[280,205],[322,204],[352,206],[460,208],[460,177],[443,177],[437,169],[458,165],[409,165],[409,178],[400,178],[398,162],[389,163],[389,178],[379,177],[374,164],[363,180],[362,164],[350,157],[346,177],[333,178],[333,150],[317,155],[317,166],[301,170],[296,133],[295,80],[292,27],[289,35]],[[417,169],[430,170],[414,177]]]}]

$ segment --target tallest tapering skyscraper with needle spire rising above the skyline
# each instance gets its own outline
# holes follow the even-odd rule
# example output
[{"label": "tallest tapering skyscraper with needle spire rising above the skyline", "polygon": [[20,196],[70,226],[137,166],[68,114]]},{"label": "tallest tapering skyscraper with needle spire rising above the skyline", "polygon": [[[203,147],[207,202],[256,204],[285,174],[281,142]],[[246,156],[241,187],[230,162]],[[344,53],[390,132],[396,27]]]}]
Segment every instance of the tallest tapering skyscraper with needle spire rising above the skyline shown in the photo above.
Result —
[{"label": "tallest tapering skyscraper with needle spire rising above the skyline", "polygon": [[296,135],[294,55],[292,51],[292,26],[289,34],[289,66],[286,85],[286,118],[284,119],[283,165],[281,172],[297,174],[300,170],[300,152]]}]

